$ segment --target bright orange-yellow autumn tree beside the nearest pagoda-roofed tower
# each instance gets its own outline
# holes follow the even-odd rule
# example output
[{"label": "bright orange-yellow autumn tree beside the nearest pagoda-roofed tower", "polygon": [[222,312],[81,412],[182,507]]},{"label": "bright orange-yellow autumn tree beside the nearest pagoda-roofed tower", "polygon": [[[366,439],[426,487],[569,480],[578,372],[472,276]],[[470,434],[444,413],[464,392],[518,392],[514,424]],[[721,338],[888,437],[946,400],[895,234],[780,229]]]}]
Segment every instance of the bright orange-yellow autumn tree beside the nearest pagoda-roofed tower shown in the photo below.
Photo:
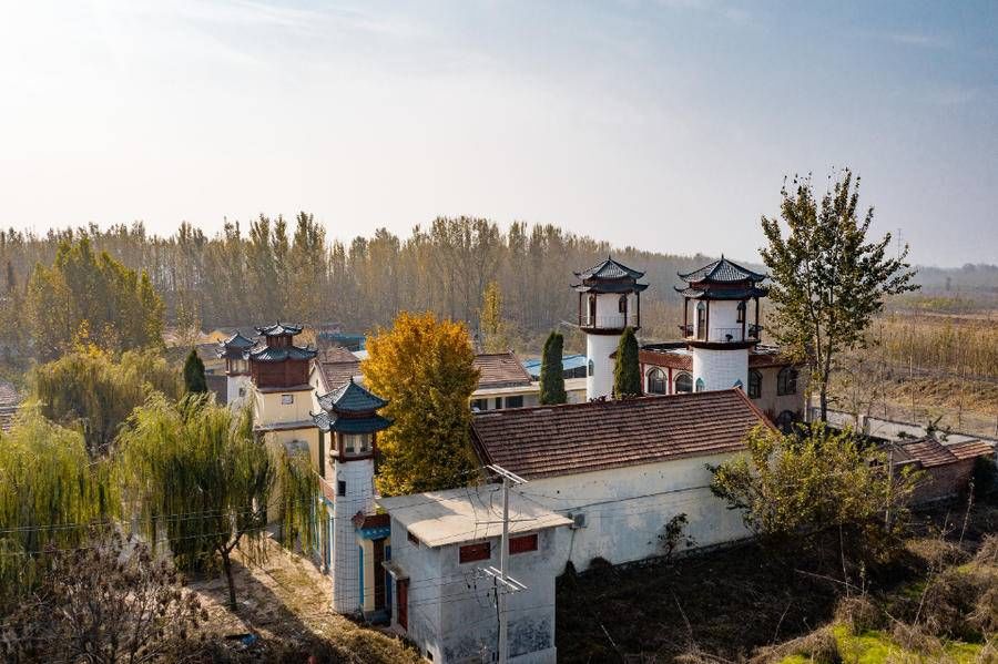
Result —
[{"label": "bright orange-yellow autumn tree beside the nearest pagoda-roofed tower", "polygon": [[367,340],[367,387],[388,399],[378,489],[388,496],[464,486],[476,462],[471,408],[478,386],[468,329],[432,314],[401,313]]}]

